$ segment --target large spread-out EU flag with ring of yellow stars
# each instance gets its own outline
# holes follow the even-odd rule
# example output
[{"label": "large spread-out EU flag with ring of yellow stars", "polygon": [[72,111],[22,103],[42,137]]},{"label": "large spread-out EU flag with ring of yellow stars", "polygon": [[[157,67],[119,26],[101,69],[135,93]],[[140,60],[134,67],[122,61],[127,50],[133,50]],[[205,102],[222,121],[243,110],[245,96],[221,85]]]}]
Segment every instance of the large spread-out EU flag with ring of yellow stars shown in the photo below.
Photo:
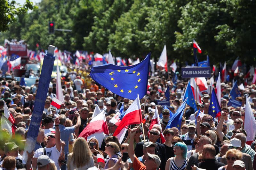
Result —
[{"label": "large spread-out EU flag with ring of yellow stars", "polygon": [[104,64],[93,66],[90,72],[92,79],[111,92],[135,100],[147,93],[150,53],[140,63],[131,66]]}]

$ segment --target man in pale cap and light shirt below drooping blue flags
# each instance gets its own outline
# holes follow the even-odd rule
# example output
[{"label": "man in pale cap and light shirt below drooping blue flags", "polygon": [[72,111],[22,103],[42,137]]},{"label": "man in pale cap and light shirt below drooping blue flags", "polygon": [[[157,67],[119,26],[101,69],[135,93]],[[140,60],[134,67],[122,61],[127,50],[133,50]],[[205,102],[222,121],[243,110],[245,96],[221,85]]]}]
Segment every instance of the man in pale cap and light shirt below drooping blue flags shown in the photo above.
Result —
[{"label": "man in pale cap and light shirt below drooping blue flags", "polygon": [[188,132],[185,135],[181,135],[181,140],[187,145],[188,151],[192,150],[192,145],[196,137],[196,124],[191,122],[188,124]]}]

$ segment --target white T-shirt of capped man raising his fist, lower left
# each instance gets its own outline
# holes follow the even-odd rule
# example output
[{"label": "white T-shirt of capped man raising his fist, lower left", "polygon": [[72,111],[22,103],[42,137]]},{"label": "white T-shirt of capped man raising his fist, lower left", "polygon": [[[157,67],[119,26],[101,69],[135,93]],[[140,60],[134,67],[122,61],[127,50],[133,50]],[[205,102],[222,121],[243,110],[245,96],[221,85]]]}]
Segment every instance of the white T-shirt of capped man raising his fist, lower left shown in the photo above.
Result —
[{"label": "white T-shirt of capped man raising his fist, lower left", "polygon": [[[49,158],[52,159],[55,162],[55,165],[56,165],[57,169],[60,170],[58,160],[59,160],[59,157],[60,157],[61,148],[60,148],[60,152],[59,152],[58,149],[56,148],[56,145],[51,147],[51,148],[46,148],[45,147],[45,152],[46,152],[46,155],[49,156]],[[34,154],[34,158],[38,158],[41,155],[44,155],[44,148],[37,149],[35,154]]]}]

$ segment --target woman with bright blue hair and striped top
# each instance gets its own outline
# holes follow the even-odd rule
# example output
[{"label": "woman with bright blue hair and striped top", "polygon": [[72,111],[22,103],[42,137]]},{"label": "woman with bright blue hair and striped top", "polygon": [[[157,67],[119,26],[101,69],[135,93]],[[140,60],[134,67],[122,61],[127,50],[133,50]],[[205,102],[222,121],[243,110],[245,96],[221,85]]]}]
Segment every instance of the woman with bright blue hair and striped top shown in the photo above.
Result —
[{"label": "woman with bright blue hair and striped top", "polygon": [[183,142],[178,142],[174,145],[173,151],[175,157],[169,158],[165,165],[165,170],[185,170],[188,164],[187,145]]}]

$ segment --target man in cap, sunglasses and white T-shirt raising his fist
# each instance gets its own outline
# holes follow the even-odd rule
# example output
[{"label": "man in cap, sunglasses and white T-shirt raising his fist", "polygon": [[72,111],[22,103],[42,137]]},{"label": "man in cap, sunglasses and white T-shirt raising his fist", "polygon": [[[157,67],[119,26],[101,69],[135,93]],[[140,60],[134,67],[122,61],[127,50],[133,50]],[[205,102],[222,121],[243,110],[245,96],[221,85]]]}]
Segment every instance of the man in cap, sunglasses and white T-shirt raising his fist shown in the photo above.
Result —
[{"label": "man in cap, sunglasses and white T-shirt raising his fist", "polygon": [[57,169],[60,170],[59,161],[58,161],[61,153],[59,118],[57,117],[54,120],[54,122],[55,122],[55,133],[50,133],[49,135],[47,135],[45,148],[39,148],[36,150],[35,155],[33,157],[34,159],[32,160],[33,169],[36,169],[37,158],[41,155],[47,155],[49,156],[50,159],[52,159],[55,162]]}]

